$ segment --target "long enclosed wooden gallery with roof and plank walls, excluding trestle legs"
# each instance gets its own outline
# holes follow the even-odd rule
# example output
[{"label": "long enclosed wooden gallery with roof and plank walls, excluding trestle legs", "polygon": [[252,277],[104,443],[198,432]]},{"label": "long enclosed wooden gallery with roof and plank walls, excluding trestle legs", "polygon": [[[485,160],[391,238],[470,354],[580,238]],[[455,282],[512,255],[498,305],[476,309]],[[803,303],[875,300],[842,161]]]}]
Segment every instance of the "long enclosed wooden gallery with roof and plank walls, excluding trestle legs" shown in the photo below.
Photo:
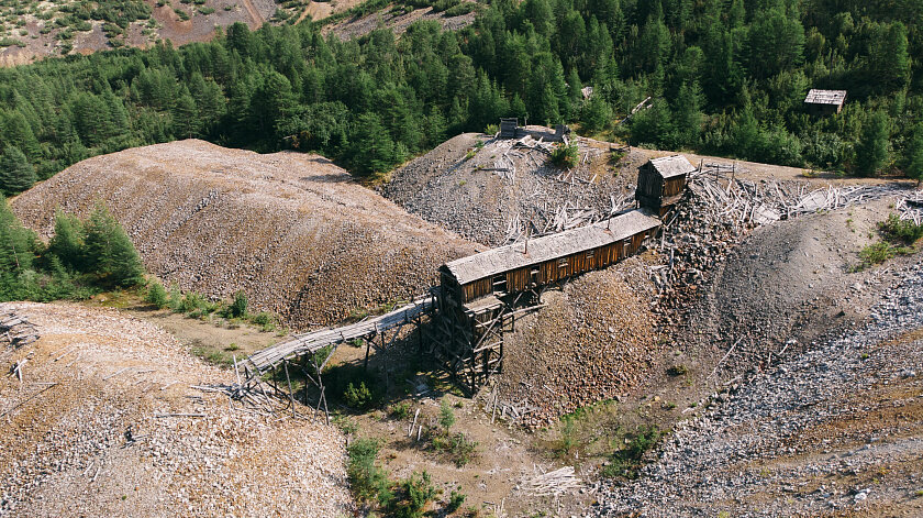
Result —
[{"label": "long enclosed wooden gallery with roof and plank walls, excluding trestle legs", "polygon": [[492,294],[514,294],[604,268],[637,252],[660,220],[633,210],[565,232],[488,250],[440,268],[443,296],[465,305]]}]

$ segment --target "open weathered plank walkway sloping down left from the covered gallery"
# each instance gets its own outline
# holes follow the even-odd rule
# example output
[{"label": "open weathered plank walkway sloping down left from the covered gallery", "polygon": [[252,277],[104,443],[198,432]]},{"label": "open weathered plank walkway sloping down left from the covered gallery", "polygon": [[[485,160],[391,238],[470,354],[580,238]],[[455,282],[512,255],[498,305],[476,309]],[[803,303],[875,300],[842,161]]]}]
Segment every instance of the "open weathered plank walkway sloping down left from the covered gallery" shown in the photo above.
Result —
[{"label": "open weathered plank walkway sloping down left from the covered gallery", "polygon": [[304,354],[314,354],[327,345],[336,345],[360,338],[366,339],[389,329],[411,323],[421,316],[432,312],[435,307],[435,295],[430,294],[413,300],[407,306],[362,322],[351,323],[342,328],[294,334],[288,340],[254,353],[248,361],[256,367],[257,372],[264,373],[286,360]]}]

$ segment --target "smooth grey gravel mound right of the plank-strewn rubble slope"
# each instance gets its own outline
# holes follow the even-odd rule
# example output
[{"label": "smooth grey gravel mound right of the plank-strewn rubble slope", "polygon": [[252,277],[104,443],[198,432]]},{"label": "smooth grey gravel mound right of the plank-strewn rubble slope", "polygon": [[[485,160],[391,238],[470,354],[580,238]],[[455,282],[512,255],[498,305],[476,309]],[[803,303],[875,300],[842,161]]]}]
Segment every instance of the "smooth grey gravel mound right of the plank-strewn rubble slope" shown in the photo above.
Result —
[{"label": "smooth grey gravel mound right of the plank-strewn rubble slope", "polygon": [[[798,352],[830,331],[861,321],[880,282],[874,272],[849,269],[859,263],[858,252],[878,240],[877,224],[887,219],[892,202],[883,198],[760,227],[730,251],[715,249],[714,257],[726,258],[713,267],[678,261],[688,268],[686,289],[698,285],[693,293],[702,296],[689,310],[676,346],[718,344],[729,351],[736,343],[722,368],[741,374],[768,363],[770,353],[786,344],[789,352]],[[696,211],[685,214],[687,210],[680,209],[680,219],[694,221]],[[678,257],[683,250],[712,250],[703,246],[711,242],[707,234],[687,231],[677,240]],[[691,265],[711,269],[710,282]]]}]

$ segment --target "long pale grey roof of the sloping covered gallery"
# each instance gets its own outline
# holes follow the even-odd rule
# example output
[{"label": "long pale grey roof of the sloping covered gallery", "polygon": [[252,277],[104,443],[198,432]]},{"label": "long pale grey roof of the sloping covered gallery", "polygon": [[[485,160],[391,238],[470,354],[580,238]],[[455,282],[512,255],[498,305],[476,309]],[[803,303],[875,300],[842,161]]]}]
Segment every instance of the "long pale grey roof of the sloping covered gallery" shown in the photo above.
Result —
[{"label": "long pale grey roof of the sloping covered gallery", "polygon": [[458,284],[464,285],[511,269],[605,246],[659,225],[660,220],[657,218],[633,210],[611,220],[530,240],[529,254],[525,253],[525,243],[515,243],[462,257],[446,263],[443,267],[455,276]]}]

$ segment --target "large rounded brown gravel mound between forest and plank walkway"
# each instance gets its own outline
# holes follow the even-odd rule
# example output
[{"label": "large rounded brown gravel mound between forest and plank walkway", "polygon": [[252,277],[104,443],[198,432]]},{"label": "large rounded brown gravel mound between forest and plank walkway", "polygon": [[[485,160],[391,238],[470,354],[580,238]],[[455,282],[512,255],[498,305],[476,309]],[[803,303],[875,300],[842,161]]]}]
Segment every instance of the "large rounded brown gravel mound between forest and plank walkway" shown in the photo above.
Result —
[{"label": "large rounded brown gravel mound between forest and plank walkway", "polygon": [[98,199],[149,272],[212,298],[243,289],[296,329],[410,299],[441,264],[478,250],[323,157],[194,140],[84,161],[19,196],[13,209],[47,236],[57,207],[82,216]]}]

